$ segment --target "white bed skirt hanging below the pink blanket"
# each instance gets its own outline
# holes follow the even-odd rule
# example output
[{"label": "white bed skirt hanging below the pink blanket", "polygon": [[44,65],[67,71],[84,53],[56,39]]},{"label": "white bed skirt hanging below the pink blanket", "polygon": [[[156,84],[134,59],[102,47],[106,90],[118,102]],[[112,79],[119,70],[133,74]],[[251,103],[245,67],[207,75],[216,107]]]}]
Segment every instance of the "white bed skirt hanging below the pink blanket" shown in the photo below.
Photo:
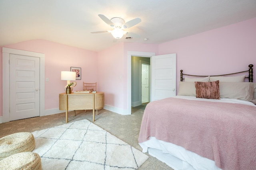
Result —
[{"label": "white bed skirt hanging below the pink blanket", "polygon": [[142,147],[142,152],[148,152],[174,170],[221,170],[213,160],[178,145],[157,140],[155,137],[150,137],[150,140],[139,145]]}]

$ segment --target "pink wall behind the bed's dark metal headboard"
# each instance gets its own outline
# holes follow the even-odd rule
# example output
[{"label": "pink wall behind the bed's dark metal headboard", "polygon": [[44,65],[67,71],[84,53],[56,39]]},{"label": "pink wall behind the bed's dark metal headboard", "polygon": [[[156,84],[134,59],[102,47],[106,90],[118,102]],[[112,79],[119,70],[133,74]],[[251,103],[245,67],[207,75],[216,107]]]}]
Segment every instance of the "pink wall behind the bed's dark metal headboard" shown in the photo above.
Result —
[{"label": "pink wall behind the bed's dark metal headboard", "polygon": [[254,64],[256,82],[256,18],[159,45],[159,55],[177,54],[177,87],[180,70],[213,75],[248,70]]}]

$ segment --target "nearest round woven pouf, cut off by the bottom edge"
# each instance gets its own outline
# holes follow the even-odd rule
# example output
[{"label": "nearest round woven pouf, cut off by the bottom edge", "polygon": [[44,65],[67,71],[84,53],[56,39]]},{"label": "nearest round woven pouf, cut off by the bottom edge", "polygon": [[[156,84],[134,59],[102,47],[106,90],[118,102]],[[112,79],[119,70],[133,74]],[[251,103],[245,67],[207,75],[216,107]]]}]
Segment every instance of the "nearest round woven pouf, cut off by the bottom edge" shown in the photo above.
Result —
[{"label": "nearest round woven pouf, cut off by the bottom edge", "polygon": [[0,160],[0,170],[41,170],[41,158],[35,152],[20,152]]}]

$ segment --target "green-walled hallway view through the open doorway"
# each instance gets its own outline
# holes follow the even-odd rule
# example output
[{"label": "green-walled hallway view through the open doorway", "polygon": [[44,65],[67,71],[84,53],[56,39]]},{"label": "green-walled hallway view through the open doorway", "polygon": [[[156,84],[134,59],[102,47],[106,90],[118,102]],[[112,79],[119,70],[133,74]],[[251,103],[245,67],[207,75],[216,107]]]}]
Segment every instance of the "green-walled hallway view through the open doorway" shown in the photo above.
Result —
[{"label": "green-walled hallway view through the open doorway", "polygon": [[150,57],[132,56],[131,106],[141,107],[148,102],[150,102]]}]

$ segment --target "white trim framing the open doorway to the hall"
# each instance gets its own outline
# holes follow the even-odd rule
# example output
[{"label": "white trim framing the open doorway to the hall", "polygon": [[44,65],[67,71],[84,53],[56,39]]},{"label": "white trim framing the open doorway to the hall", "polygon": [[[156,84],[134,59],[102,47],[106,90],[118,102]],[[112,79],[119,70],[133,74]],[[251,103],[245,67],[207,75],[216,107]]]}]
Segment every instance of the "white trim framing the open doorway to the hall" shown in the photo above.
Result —
[{"label": "white trim framing the open doorway to the hall", "polygon": [[156,55],[156,53],[141,52],[141,51],[127,51],[127,94],[126,94],[127,108],[125,113],[126,115],[132,114],[132,56],[150,57],[150,63],[151,63],[151,57],[154,55]]}]

